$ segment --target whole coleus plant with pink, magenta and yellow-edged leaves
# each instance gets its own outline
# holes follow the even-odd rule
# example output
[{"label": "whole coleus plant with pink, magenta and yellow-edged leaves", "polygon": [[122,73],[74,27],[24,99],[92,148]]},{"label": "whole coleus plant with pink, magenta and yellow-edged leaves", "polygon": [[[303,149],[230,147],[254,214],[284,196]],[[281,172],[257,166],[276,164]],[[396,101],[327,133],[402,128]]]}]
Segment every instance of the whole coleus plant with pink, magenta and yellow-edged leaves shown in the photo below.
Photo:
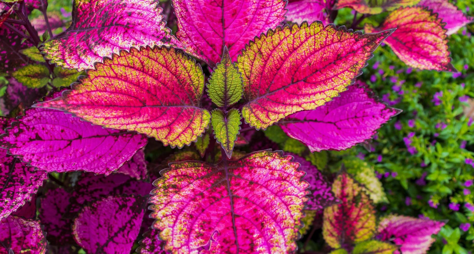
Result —
[{"label": "whole coleus plant with pink, magenta and yellow-edged leaves", "polygon": [[[1,71],[36,99],[49,92],[33,107],[17,98],[23,114],[1,119],[0,228],[24,234],[2,234],[7,253],[45,253],[45,239],[58,253],[129,253],[136,240],[140,253],[295,252],[302,221],[322,210],[335,253],[423,253],[442,227],[392,216],[377,228],[376,184],[343,171],[331,187],[298,155],[235,148],[272,125],[310,152],[369,140],[399,110],[355,79],[383,41],[411,66],[455,70],[446,38],[471,18],[456,19],[462,13],[449,3],[173,0],[173,35],[156,1],[75,0],[70,27],[54,35],[46,0],[2,2]],[[364,34],[330,24],[343,7],[363,13],[353,28],[391,13]],[[46,29],[27,18],[35,8]],[[146,167],[145,146],[194,141],[199,153]],[[371,175],[360,172],[357,181]],[[37,220],[34,195],[46,179]]]}]

